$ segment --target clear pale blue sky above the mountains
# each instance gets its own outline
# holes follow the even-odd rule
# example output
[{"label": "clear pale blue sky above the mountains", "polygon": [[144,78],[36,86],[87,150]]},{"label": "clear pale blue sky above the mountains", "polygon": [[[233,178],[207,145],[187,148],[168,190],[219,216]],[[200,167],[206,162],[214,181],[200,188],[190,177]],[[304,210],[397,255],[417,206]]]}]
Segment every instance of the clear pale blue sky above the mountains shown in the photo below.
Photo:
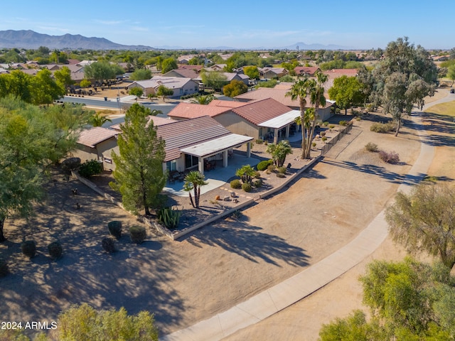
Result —
[{"label": "clear pale blue sky above the mountains", "polygon": [[[454,0],[5,1],[0,31],[107,38],[123,45],[385,48],[399,37],[455,47]],[[302,46],[300,46],[302,48]]]}]

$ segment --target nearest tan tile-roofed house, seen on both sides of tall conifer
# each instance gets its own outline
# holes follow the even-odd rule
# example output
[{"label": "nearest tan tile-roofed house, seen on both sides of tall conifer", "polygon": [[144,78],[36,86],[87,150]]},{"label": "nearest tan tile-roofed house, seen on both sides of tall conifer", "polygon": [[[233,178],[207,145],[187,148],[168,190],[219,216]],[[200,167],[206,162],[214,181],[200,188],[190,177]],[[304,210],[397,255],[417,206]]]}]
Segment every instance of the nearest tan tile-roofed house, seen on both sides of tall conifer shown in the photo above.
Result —
[{"label": "nearest tan tile-roofed house, seen on both sides of tall conifer", "polygon": [[[223,167],[227,167],[229,151],[252,141],[248,136],[232,134],[208,116],[186,121],[153,116],[149,119],[156,126],[156,134],[165,141],[163,171],[198,170],[203,173],[205,161],[212,160],[223,160]],[[111,153],[119,153],[117,135],[122,134],[122,130],[121,124],[111,128],[97,127],[82,131],[75,156],[82,160],[103,161],[105,169],[114,170]],[[250,144],[247,144],[247,156],[250,157]]]}]

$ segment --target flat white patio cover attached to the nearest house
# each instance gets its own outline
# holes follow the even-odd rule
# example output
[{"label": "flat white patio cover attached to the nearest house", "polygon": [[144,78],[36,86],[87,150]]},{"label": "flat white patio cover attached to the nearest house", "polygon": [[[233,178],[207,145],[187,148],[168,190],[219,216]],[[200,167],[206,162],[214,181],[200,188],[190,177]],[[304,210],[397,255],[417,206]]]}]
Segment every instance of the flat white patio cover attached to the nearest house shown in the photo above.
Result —
[{"label": "flat white patio cover attached to the nearest house", "polygon": [[181,148],[180,151],[198,157],[212,156],[221,151],[225,151],[226,149],[241,146],[242,144],[245,144],[245,142],[252,140],[253,138],[250,136],[228,134],[218,137],[217,139],[203,142],[202,144]]}]

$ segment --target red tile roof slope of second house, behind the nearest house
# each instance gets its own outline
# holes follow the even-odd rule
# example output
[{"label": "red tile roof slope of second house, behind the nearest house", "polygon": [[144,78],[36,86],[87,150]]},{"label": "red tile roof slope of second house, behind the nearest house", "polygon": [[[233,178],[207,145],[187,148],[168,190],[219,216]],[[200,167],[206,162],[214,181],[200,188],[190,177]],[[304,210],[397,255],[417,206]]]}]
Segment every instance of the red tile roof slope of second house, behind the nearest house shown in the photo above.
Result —
[{"label": "red tile roof slope of second house, behind the nearest house", "polygon": [[272,98],[247,102],[245,105],[242,105],[242,107],[232,109],[232,112],[235,112],[235,114],[256,125],[268,121],[269,119],[279,117],[290,111],[291,109],[289,109],[289,107]]}]

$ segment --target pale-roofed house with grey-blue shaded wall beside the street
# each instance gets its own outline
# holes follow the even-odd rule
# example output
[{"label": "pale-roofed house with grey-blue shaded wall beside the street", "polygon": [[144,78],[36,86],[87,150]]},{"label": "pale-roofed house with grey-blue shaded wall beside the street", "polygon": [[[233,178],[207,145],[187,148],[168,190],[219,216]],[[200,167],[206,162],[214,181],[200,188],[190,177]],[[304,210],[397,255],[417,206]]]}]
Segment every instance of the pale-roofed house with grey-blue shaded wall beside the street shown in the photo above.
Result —
[{"label": "pale-roofed house with grey-blue shaded wall beside the street", "polygon": [[173,95],[170,96],[173,98],[179,98],[186,94],[194,94],[199,91],[199,83],[196,80],[165,76],[154,76],[151,80],[137,80],[128,85],[128,89],[141,87],[144,95],[148,96],[149,94],[156,94],[161,85],[173,90]]}]

